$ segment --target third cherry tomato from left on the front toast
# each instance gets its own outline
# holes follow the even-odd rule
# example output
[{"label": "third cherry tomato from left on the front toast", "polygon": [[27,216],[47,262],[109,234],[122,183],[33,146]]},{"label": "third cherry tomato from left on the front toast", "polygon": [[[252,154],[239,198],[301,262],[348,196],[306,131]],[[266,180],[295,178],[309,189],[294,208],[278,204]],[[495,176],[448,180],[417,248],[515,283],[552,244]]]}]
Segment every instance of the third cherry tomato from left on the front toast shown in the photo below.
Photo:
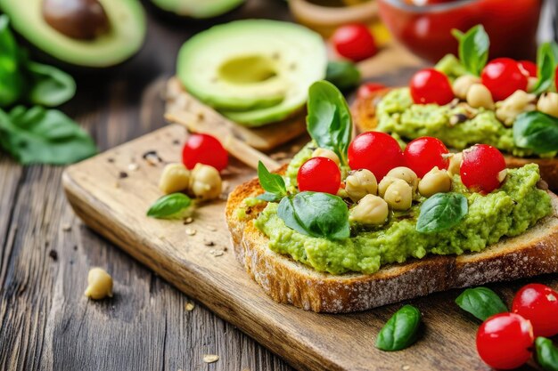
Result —
[{"label": "third cherry tomato from left on the front toast", "polygon": [[419,178],[423,178],[425,173],[432,170],[434,166],[447,169],[449,158],[445,157],[449,151],[442,141],[437,138],[425,136],[423,138],[410,141],[403,152],[405,164],[416,173]]}]

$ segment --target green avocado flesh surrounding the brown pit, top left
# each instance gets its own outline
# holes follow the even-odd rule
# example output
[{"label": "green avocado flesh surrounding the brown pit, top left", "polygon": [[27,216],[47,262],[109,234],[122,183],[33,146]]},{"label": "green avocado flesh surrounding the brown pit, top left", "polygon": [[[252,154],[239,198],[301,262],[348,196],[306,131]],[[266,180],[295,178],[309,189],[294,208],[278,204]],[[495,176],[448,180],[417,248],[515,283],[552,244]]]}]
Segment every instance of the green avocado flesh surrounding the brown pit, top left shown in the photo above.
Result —
[{"label": "green avocado flesh surrounding the brown pit, top left", "polygon": [[127,60],[144,44],[145,14],[137,0],[99,0],[110,20],[107,33],[93,40],[65,36],[49,26],[41,12],[42,0],[0,0],[12,27],[37,49],[75,66],[105,68]]}]

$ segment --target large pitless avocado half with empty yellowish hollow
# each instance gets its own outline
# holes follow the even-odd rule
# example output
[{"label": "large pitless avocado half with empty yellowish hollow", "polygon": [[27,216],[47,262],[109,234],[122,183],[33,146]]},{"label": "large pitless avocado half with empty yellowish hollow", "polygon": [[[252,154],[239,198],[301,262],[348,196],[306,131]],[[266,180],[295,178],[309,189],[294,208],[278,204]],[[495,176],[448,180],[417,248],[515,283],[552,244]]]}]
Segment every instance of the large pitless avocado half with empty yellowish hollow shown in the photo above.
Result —
[{"label": "large pitless avocado half with empty yellowish hollow", "polygon": [[326,65],[324,40],[314,31],[277,20],[237,20],[188,40],[178,53],[177,76],[226,117],[259,126],[300,110]]}]

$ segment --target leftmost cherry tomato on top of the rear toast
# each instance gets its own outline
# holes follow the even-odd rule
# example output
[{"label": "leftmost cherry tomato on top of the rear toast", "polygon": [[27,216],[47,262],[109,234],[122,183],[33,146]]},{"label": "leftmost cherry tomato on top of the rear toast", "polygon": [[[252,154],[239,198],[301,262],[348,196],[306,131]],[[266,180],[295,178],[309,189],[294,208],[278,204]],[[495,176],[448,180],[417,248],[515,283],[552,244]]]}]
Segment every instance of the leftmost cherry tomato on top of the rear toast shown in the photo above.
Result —
[{"label": "leftmost cherry tomato on top of the rear toast", "polygon": [[447,76],[436,69],[421,69],[415,73],[410,88],[416,104],[436,103],[442,106],[454,99]]}]

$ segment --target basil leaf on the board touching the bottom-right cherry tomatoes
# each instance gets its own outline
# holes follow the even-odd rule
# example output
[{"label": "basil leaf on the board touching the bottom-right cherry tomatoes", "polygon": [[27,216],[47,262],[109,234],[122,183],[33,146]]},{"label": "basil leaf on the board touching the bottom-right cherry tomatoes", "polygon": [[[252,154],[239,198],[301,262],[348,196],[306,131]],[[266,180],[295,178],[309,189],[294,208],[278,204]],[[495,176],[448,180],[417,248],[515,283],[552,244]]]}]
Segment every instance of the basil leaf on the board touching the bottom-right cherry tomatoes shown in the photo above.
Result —
[{"label": "basil leaf on the board touching the bottom-right cherry tomatoes", "polygon": [[468,288],[457,296],[455,303],[481,321],[508,311],[500,296],[487,287]]}]

